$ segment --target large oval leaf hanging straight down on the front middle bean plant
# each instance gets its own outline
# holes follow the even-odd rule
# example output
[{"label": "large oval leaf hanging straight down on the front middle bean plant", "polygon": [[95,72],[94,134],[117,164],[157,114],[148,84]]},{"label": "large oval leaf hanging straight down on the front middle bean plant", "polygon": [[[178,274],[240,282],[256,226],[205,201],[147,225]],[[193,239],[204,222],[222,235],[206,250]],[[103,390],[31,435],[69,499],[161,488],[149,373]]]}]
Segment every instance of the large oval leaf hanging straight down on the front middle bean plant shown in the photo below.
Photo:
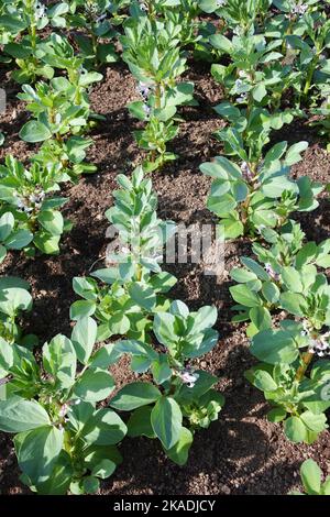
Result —
[{"label": "large oval leaf hanging straight down on the front middle bean plant", "polygon": [[161,397],[152,410],[151,422],[165,449],[172,449],[180,439],[183,414],[170,397]]}]

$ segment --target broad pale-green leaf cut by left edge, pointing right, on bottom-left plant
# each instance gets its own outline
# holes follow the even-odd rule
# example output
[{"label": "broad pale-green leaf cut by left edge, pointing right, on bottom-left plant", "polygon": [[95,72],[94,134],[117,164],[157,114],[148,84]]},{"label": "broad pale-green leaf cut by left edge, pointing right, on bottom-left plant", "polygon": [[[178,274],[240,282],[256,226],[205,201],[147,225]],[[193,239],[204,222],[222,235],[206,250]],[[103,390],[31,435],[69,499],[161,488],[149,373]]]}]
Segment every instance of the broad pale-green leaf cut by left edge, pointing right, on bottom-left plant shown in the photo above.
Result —
[{"label": "broad pale-green leaf cut by left edge, pointing right, on bottom-left plant", "polygon": [[48,414],[36,400],[18,396],[0,400],[0,429],[4,432],[30,431],[50,425]]}]

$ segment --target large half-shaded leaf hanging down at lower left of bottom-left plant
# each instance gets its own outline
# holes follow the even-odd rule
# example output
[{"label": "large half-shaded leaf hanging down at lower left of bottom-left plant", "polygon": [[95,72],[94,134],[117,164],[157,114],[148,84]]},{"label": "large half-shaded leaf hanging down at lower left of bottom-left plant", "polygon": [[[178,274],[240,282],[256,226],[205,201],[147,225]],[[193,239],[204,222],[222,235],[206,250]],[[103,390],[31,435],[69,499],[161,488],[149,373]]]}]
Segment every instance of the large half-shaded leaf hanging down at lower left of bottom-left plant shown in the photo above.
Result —
[{"label": "large half-shaded leaf hanging down at lower left of bottom-left plant", "polygon": [[18,462],[32,484],[51,476],[63,447],[64,433],[54,426],[38,427],[14,438]]}]

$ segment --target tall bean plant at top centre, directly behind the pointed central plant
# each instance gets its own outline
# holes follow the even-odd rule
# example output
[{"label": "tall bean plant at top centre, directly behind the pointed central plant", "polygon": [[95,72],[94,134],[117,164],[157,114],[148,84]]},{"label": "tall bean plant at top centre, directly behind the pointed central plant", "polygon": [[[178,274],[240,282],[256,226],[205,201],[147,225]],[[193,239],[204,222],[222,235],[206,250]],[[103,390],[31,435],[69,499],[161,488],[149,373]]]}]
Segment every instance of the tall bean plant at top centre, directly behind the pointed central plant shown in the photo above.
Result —
[{"label": "tall bean plant at top centre, directly behind the pointed central plant", "polygon": [[138,144],[148,152],[144,167],[154,170],[176,158],[167,142],[179,131],[177,108],[193,102],[194,84],[178,82],[186,69],[180,26],[172,20],[150,20],[140,11],[124,22],[123,61],[138,81],[141,100],[129,105],[133,117],[145,123],[134,132]]}]

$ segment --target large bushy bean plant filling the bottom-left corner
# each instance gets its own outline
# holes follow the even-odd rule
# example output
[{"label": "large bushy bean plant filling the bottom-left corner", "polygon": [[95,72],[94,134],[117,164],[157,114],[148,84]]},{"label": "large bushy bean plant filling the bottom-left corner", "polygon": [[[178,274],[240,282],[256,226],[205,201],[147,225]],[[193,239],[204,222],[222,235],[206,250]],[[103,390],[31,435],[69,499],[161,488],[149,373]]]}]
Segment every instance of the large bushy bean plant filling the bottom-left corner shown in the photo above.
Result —
[{"label": "large bushy bean plant filling the bottom-left corner", "polygon": [[58,334],[43,345],[42,362],[0,338],[0,429],[14,435],[21,480],[38,494],[95,493],[121,462],[116,444],[127,426],[96,406],[114,388],[94,361],[96,334],[96,322],[81,319],[70,339]]}]

